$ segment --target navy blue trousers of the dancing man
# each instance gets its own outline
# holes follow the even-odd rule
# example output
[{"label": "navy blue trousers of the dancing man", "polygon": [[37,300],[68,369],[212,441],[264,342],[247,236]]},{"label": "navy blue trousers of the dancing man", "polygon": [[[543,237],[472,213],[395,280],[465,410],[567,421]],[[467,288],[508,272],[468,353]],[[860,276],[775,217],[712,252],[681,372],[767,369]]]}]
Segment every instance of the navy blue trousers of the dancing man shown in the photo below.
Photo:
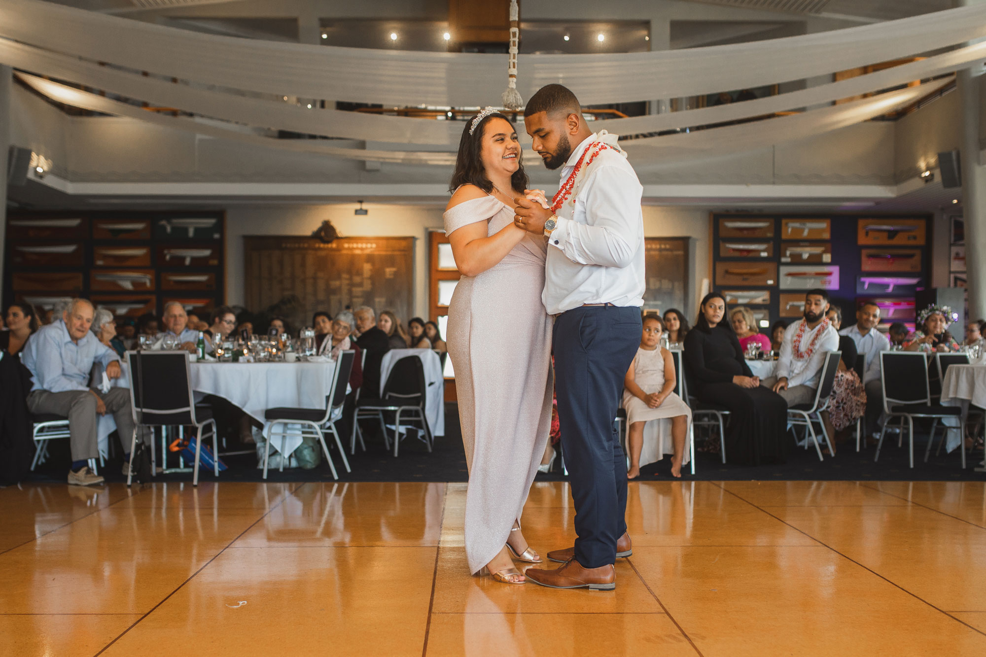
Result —
[{"label": "navy blue trousers of the dancing man", "polygon": [[639,308],[583,306],[555,320],[555,393],[575,503],[575,558],[613,563],[626,532],[626,457],[616,428],[623,379],[640,346]]}]

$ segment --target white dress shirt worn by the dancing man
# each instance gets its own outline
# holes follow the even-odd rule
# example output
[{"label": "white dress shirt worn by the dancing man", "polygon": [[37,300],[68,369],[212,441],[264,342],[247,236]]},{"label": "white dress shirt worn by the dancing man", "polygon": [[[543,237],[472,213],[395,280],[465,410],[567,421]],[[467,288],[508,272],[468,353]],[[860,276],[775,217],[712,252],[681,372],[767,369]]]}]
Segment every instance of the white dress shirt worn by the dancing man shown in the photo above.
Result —
[{"label": "white dress shirt worn by the dancing man", "polygon": [[[572,151],[561,170],[562,183],[597,139],[587,137]],[[588,178],[577,185],[574,211],[570,202],[562,205],[548,238],[541,296],[548,315],[584,304],[644,305],[644,187],[613,149],[602,150],[583,176]]]}]

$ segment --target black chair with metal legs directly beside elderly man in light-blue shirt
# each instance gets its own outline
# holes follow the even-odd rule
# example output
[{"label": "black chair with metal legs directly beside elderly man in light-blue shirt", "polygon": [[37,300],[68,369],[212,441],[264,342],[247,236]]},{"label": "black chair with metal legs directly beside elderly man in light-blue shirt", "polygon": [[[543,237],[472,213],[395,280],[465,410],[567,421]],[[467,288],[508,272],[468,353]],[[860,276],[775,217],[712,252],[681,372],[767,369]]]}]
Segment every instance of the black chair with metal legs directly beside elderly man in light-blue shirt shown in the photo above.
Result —
[{"label": "black chair with metal legs directly beside elderly man in light-blue shirt", "polygon": [[[203,438],[212,438],[212,468],[213,474],[218,477],[216,421],[212,418],[211,408],[195,405],[188,370],[188,352],[127,351],[126,364],[130,372],[130,407],[133,409],[134,419],[130,454],[134,454],[137,447],[137,431],[141,426],[193,426],[195,465],[192,467],[192,485],[198,485]],[[153,441],[151,449],[153,454]],[[132,477],[131,469],[126,476],[127,485],[130,485]]]}]

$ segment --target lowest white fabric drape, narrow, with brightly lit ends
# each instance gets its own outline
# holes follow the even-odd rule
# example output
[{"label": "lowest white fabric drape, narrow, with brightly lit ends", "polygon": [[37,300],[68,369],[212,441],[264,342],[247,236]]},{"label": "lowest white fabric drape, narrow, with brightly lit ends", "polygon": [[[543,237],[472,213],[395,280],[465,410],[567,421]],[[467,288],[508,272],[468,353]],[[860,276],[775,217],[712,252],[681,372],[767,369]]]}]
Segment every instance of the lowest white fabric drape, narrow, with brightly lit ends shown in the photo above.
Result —
[{"label": "lowest white fabric drape, narrow, with brightly lit ends", "polygon": [[[328,146],[333,143],[318,139],[273,139],[260,135],[239,132],[233,129],[216,127],[189,118],[164,116],[155,112],[141,110],[126,103],[82,92],[55,82],[43,80],[24,73],[17,74],[37,91],[60,102],[86,110],[103,111],[120,116],[129,116],[157,125],[190,130],[199,134],[231,139],[249,144],[293,150],[297,152],[320,153],[357,160],[382,162],[401,162],[430,165],[451,165],[455,163],[455,153],[411,152],[411,151],[368,151],[354,148]],[[751,148],[763,148],[771,144],[803,139],[813,134],[834,130],[860,121],[873,118],[888,111],[898,110],[919,98],[935,92],[951,80],[937,80],[917,87],[880,94],[843,105],[810,110],[788,116],[779,116],[763,121],[729,125],[698,130],[690,133],[670,134],[662,137],[637,139],[626,144],[626,151],[634,164],[648,164],[666,161],[669,156],[679,159],[702,158],[710,154],[737,152]],[[622,144],[621,144],[622,146]],[[536,153],[527,152],[528,158],[536,158]]]}]

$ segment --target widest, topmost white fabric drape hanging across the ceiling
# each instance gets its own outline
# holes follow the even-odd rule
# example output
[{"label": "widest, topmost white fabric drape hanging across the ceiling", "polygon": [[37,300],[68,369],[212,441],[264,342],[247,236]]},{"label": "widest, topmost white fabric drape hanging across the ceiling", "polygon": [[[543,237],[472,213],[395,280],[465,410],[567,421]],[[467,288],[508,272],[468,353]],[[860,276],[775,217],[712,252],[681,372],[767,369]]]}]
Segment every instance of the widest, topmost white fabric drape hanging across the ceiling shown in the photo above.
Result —
[{"label": "widest, topmost white fabric drape hanging across the ceiling", "polygon": [[[40,0],[0,4],[0,36],[203,84],[286,96],[495,104],[504,56],[340,48],[203,35]],[[586,105],[800,80],[986,37],[986,4],[799,37],[621,54],[522,55],[525,98],[561,82]],[[607,128],[608,129],[608,128]]]}]

